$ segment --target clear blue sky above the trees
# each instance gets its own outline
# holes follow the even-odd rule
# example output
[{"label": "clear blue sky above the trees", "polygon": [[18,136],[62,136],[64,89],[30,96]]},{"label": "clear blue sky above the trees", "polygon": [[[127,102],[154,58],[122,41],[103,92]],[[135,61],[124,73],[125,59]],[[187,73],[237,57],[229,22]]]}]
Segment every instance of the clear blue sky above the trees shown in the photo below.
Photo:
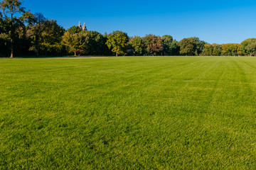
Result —
[{"label": "clear blue sky above the trees", "polygon": [[176,40],[196,36],[210,43],[240,43],[256,37],[255,0],[24,0],[23,6],[64,28],[81,21],[100,33],[122,30],[129,36],[152,33]]}]

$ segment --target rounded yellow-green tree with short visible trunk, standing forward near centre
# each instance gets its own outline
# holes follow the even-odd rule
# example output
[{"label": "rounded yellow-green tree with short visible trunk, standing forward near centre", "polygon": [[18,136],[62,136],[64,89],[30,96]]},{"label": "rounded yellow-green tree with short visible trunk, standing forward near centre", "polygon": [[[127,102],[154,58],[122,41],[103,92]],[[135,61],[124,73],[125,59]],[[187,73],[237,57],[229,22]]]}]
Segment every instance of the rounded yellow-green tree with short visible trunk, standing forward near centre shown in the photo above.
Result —
[{"label": "rounded yellow-green tree with short visible trunk, standing forward near centre", "polygon": [[107,35],[106,45],[112,52],[116,53],[116,56],[118,56],[118,54],[125,55],[128,41],[129,37],[127,33],[124,33],[121,30],[116,30]]}]

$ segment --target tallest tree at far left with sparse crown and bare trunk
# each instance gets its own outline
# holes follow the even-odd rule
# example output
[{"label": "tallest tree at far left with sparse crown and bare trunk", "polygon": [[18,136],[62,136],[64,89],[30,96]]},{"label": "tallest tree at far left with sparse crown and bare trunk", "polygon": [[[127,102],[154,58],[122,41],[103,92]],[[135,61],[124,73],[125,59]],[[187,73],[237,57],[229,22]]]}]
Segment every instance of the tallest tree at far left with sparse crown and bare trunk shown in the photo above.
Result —
[{"label": "tallest tree at far left with sparse crown and bare trunk", "polygon": [[6,37],[8,37],[11,47],[11,58],[14,57],[14,42],[19,38],[17,30],[24,31],[25,8],[22,7],[20,0],[1,0],[0,9],[3,15],[3,25]]}]

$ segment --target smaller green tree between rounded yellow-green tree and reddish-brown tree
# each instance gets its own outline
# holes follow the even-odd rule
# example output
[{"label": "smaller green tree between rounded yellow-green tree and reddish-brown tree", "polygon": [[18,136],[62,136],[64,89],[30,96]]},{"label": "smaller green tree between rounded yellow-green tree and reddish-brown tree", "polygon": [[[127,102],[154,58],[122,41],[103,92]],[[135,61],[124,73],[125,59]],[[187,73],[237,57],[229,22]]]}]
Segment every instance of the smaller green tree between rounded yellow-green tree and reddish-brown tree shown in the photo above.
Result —
[{"label": "smaller green tree between rounded yellow-green tree and reddish-brown tree", "polygon": [[135,36],[129,40],[128,44],[132,47],[134,55],[142,55],[144,49],[144,41],[141,37]]}]

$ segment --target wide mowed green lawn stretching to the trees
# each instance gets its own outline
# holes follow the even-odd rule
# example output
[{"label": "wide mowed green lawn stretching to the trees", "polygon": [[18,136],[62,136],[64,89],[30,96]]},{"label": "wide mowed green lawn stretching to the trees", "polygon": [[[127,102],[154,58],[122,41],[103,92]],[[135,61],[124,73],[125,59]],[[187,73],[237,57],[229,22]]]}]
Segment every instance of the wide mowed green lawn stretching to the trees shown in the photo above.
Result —
[{"label": "wide mowed green lawn stretching to the trees", "polygon": [[255,169],[256,57],[0,60],[0,169]]}]

